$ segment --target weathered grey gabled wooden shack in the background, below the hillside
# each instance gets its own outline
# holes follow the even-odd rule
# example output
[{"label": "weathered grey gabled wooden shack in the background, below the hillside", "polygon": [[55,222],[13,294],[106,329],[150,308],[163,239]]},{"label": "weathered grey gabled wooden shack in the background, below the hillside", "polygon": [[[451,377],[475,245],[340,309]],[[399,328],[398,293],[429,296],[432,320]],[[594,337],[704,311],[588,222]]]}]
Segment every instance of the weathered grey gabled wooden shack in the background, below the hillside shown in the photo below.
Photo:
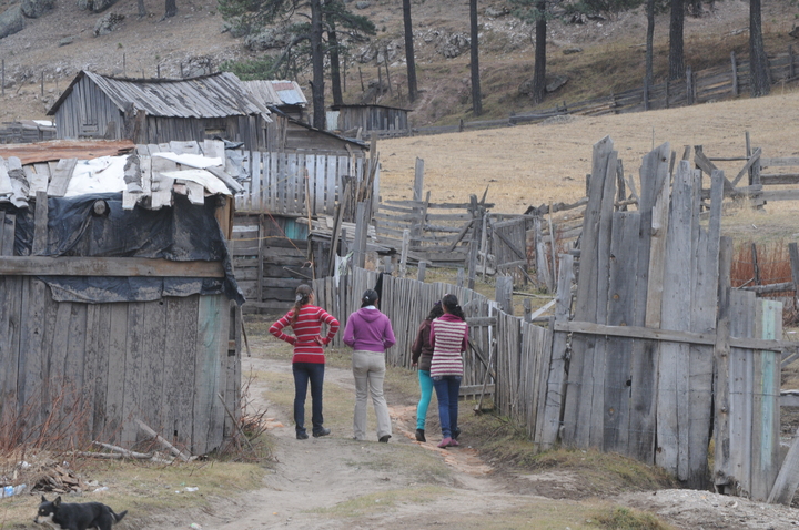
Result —
[{"label": "weathered grey gabled wooden shack in the background, below the hillside", "polygon": [[48,111],[59,139],[136,144],[223,139],[266,151],[270,111],[230,72],[191,79],[124,79],[87,70]]}]

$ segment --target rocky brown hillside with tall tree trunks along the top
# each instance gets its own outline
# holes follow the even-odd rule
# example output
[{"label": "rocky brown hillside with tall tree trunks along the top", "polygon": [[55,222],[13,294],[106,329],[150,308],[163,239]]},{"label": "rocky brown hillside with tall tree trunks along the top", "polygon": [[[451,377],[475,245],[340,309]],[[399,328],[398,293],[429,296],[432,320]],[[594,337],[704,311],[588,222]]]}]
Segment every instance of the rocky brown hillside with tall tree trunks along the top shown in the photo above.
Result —
[{"label": "rocky brown hillside with tall tree trunks along the top", "polygon": [[[296,79],[317,108],[411,108],[414,126],[504,118],[729,64],[732,52],[757,74],[795,42],[799,19],[788,0],[93,1],[0,7],[0,18],[37,14],[0,39],[0,120],[43,118],[81,69]],[[773,81],[754,80],[755,95]]]}]

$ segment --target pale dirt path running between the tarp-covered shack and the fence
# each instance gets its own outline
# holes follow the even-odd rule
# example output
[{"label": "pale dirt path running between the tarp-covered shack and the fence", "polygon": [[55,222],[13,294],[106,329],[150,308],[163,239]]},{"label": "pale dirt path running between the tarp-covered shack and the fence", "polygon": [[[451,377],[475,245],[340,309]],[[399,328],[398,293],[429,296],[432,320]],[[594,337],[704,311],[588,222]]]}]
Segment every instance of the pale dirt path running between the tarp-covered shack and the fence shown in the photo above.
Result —
[{"label": "pale dirt path running between the tarp-covered shack and the fence", "polygon": [[[243,371],[289,373],[290,365],[285,361],[265,358],[244,358]],[[325,385],[338,385],[355,391],[352,373],[333,367],[325,368]],[[296,440],[294,427],[290,418],[272,407],[264,398],[265,385],[254,380],[250,386],[250,397],[255,400],[256,408],[269,408],[274,418],[270,432],[275,438],[276,463],[273,472],[264,479],[264,487],[236,499],[231,499],[219,509],[198,514],[191,522],[200,524],[204,530],[247,530],[269,528],[378,528],[396,524],[402,519],[405,528],[415,524],[434,523],[436,518],[445,522],[451,513],[468,513],[477,498],[486,496],[495,498],[492,506],[500,509],[504,506],[517,504],[514,499],[502,490],[487,473],[486,466],[474,449],[463,448],[445,451],[435,444],[421,445],[413,440],[413,432],[407,420],[414,411],[406,408],[391,410],[394,420],[394,436],[391,444],[373,441],[358,442],[352,440],[348,432],[334,432],[325,438]],[[261,402],[257,402],[261,400]],[[370,405],[371,407],[371,405]],[[272,414],[275,411],[276,414]],[[417,451],[425,451],[442,459],[451,469],[451,476],[442,479],[442,486],[457,488],[457,495],[445,496],[444,499],[421,504],[395,506],[391,510],[368,510],[366,517],[358,517],[357,523],[347,517],[336,513],[314,513],[313,510],[326,510],[360,498],[364,495],[391,492],[392,490],[413,489],[422,486],[418,477],[403,469],[374,466],[370,462],[380,460],[386,451],[396,450],[401,445]],[[380,498],[375,503],[380,503]],[[455,510],[455,511],[453,511]],[[423,522],[424,521],[424,522]],[[165,530],[186,528],[188,523],[163,527]]]}]

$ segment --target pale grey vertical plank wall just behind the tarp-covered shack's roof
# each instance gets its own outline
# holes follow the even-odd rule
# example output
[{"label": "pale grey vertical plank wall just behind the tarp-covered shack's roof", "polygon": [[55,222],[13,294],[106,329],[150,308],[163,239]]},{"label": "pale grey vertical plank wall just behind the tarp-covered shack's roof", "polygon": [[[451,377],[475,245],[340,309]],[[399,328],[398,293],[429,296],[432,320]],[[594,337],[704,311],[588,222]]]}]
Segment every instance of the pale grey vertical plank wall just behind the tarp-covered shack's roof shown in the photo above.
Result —
[{"label": "pale grey vertical plank wall just behind the tarp-covered shack's roof", "polygon": [[[236,195],[237,212],[270,212],[277,215],[333,215],[344,179],[364,177],[364,156],[302,152],[245,153],[251,179]],[[375,175],[374,197],[380,193],[380,169]]]}]

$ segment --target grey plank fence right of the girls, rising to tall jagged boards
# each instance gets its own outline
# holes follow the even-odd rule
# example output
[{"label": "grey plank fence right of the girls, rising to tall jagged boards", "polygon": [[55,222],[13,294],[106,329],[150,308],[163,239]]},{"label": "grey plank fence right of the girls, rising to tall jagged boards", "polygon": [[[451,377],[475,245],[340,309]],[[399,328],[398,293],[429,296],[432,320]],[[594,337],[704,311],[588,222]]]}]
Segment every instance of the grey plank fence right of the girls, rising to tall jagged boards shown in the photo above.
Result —
[{"label": "grey plank fence right of the girls, rising to tall jagged boards", "polygon": [[[409,366],[418,322],[452,292],[468,308],[478,343],[464,384],[493,380],[498,410],[540,449],[619,452],[692,487],[712,483],[766,500],[781,463],[780,359],[796,356],[797,343],[780,340],[780,303],[730,287],[731,241],[720,236],[724,173],[712,174],[704,224],[701,172],[686,160],[672,176],[670,159],[668,144],[645,156],[638,210],[626,211],[613,142],[595,145],[576,289],[574,256],[562,255],[546,327],[468,289],[384,275],[382,309],[400,339],[387,358]],[[355,269],[335,282],[317,281],[317,299],[346,322],[377,274]],[[787,487],[788,497],[795,489]]]}]

